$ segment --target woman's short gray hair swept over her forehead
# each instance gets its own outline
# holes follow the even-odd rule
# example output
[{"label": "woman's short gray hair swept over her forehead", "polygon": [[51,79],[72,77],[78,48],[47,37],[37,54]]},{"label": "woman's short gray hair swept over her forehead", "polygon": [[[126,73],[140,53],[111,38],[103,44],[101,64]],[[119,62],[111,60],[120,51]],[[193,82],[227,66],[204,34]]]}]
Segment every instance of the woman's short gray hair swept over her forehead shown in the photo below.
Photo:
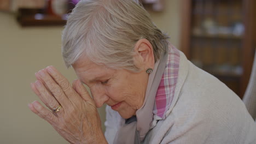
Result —
[{"label": "woman's short gray hair swept over her forehead", "polygon": [[68,68],[85,52],[97,64],[138,71],[133,63],[137,41],[152,44],[156,62],[166,52],[167,38],[138,0],[82,0],[63,30],[62,56]]}]

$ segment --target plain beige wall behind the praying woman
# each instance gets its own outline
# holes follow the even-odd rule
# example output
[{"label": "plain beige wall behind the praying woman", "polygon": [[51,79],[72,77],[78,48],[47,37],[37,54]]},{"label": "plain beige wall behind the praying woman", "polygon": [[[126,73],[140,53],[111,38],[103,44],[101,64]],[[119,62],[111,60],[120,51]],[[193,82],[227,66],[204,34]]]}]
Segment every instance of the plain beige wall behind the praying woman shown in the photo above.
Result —
[{"label": "plain beige wall behind the praying woman", "polygon": [[[166,0],[165,11],[150,14],[178,46],[178,0]],[[13,14],[3,12],[0,19],[0,143],[68,143],[27,107],[39,100],[30,89],[36,71],[54,65],[70,82],[77,79],[62,62],[63,27],[21,28]],[[100,113],[104,121],[104,110]]]}]

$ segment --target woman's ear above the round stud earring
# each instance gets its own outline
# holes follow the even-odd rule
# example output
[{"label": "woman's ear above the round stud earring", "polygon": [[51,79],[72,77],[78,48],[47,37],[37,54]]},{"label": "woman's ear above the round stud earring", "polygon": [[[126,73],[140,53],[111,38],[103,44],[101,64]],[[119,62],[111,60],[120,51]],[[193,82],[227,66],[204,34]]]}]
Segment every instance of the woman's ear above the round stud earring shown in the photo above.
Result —
[{"label": "woman's ear above the round stud earring", "polygon": [[147,70],[148,68],[154,69],[155,58],[153,46],[147,39],[140,39],[134,47],[134,60],[137,68]]}]

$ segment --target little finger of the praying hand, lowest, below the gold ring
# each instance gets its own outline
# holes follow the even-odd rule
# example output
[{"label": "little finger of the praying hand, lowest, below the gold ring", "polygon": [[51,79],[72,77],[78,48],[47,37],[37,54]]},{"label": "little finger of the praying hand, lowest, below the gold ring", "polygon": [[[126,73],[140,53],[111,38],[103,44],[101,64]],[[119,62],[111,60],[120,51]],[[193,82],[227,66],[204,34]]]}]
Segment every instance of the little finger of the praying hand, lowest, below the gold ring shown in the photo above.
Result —
[{"label": "little finger of the praying hand, lowest, below the gold ring", "polygon": [[29,107],[32,112],[45,119],[45,121],[49,122],[51,125],[56,124],[59,121],[51,111],[42,106],[38,101],[34,101]]}]

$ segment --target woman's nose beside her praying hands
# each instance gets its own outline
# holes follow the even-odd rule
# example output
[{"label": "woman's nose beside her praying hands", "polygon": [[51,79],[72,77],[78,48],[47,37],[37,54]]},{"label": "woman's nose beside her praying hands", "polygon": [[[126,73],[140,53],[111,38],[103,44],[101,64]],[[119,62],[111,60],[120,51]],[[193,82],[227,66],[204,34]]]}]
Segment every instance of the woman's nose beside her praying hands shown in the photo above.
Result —
[{"label": "woman's nose beside her praying hands", "polygon": [[94,87],[90,90],[92,98],[94,98],[97,107],[101,107],[106,101],[108,101],[109,97],[103,88]]}]

